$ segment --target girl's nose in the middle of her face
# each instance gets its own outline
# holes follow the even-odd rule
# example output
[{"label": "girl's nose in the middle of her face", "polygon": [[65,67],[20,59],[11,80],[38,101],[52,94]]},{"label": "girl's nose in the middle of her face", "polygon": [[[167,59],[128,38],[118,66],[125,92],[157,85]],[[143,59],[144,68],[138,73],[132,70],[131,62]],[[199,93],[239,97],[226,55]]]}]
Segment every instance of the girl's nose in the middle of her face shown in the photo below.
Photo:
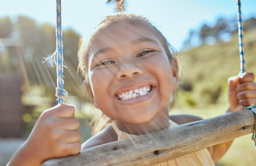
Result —
[{"label": "girl's nose in the middle of her face", "polygon": [[135,63],[125,63],[120,66],[119,71],[117,73],[118,80],[125,79],[127,77],[134,77],[137,75],[141,75],[143,70]]}]

